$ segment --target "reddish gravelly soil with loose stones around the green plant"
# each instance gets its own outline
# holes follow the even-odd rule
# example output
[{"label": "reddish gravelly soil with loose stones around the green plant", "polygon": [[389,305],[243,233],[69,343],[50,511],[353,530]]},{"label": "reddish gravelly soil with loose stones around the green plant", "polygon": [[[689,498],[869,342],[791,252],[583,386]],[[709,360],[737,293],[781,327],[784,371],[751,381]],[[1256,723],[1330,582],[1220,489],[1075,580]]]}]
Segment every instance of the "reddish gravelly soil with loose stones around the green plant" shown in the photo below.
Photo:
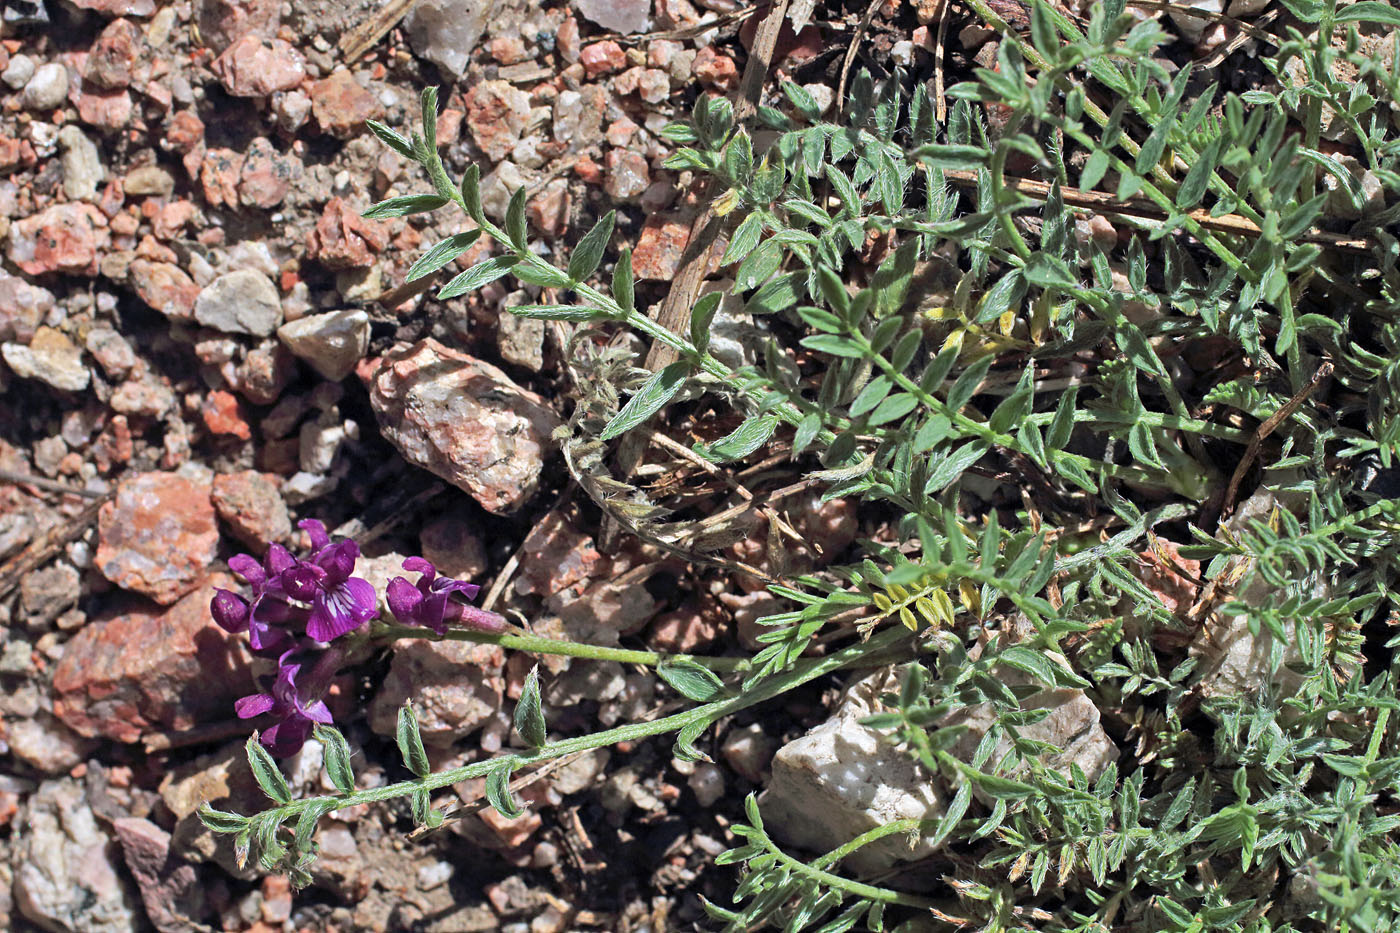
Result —
[{"label": "reddish gravelly soil with loose stones around the green plant", "polygon": [[[787,28],[774,76],[830,106],[865,6]],[[381,17],[393,7],[412,11]],[[725,724],[718,763],[662,742],[580,758],[514,821],[486,808],[406,841],[406,806],[339,811],[295,897],[238,869],[193,813],[262,804],[232,714],[260,668],[207,607],[230,555],[293,544],[300,518],[356,538],[371,580],[421,553],[540,633],[687,651],[752,635],[771,598],[748,581],[626,538],[602,549],[552,437],[564,335],[503,312],[539,296],[498,282],[442,303],[402,284],[472,221],[360,216],[423,189],[364,120],[416,125],[420,88],[440,84],[445,161],[480,165],[490,213],[525,186],[552,254],[617,209],[638,304],[659,298],[697,206],[692,179],[661,167],[658,132],[738,85],[739,7],[3,4],[0,918],[14,929],[659,932],[699,929],[694,894],[724,898],[732,880],[699,869],[774,751],[825,717],[820,686]],[[885,3],[868,60],[927,76],[937,8]],[[855,535],[843,503],[802,500],[788,521],[812,562]],[[735,555],[762,560],[769,534],[756,520]],[[344,675],[330,705],[361,780],[403,776],[393,716],[410,696],[435,768],[500,749],[532,664],[416,643]],[[547,668],[561,730],[659,703],[645,672]],[[319,754],[290,762],[294,790],[321,786]]]}]

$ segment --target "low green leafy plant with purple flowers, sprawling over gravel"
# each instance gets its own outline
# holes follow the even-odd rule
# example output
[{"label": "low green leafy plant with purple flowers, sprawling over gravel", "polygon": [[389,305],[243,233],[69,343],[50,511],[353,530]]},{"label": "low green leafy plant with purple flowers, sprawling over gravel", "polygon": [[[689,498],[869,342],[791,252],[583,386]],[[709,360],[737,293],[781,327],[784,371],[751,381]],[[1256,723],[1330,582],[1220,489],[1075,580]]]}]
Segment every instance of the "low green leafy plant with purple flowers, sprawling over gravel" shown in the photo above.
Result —
[{"label": "low green leafy plant with purple flowers, sprawling over gravel", "polygon": [[[664,433],[668,413],[706,399],[735,417],[701,431],[697,458],[727,469],[783,454],[879,531],[851,563],[766,580],[791,608],[762,621],[763,647],[746,657],[517,632],[421,559],[405,565],[421,580],[386,594],[400,625],[378,621],[353,545],[319,527],[309,560],[241,562],[253,602],[221,594],[216,618],[281,664],[239,707],[280,717],[248,747],[274,806],[203,813],[242,857],[305,884],[316,821],[337,808],[407,797],[433,827],[434,792],[486,778],[511,817],[512,776],[549,759],[665,734],[696,759],[700,735],[736,710],[900,663],[900,689],[865,723],[948,789],[946,810],[812,859],[780,846],[750,799],[717,860],[739,866],[735,902],[706,905],[722,929],[1396,929],[1400,206],[1385,200],[1400,192],[1400,49],[1389,63],[1362,55],[1355,28],[1400,14],[1288,0],[1289,24],[1261,52],[1277,85],[1236,94],[1173,74],[1159,25],[1123,0],[1093,4],[1084,31],[1037,1],[1026,35],[984,0],[967,6],[1000,48],[994,69],[948,90],[945,120],[925,84],[860,71],[833,120],[784,84],[757,111],[762,133],[707,94],[665,130],[668,165],[722,192],[732,279],[731,297],[694,304],[685,333],[638,303],[612,213],[560,266],[532,249],[524,188],[493,217],[475,165],[454,181],[434,90],[421,133],[371,123],[431,191],[370,216],[455,207],[476,224],[407,277],[484,237],[497,255],[438,297],[510,276],[546,296],[511,314],[564,325],[574,408],[560,440],[605,514],[700,566],[721,560],[727,527],[608,458],[619,437]],[[1355,163],[1326,143],[1338,136]],[[734,298],[756,321],[749,364],[711,346]],[[640,368],[609,339],[622,329],[675,361]],[[1189,595],[1165,600],[1166,579]],[[336,636],[354,647],[326,647]],[[406,706],[398,740],[414,778],[357,789],[314,684],[398,637],[650,665],[693,705],[552,738],[531,675],[518,748],[438,773]],[[1253,675],[1225,689],[1212,665],[1240,644],[1259,656]],[[1102,773],[1061,773],[1044,763],[1057,749],[1018,731],[1050,713],[1022,709],[1046,688],[1098,707],[1119,740]],[[959,756],[949,716],[983,705],[994,721]],[[337,793],[294,800],[265,745],[311,734]],[[897,835],[938,846],[917,884],[843,871]]]}]

